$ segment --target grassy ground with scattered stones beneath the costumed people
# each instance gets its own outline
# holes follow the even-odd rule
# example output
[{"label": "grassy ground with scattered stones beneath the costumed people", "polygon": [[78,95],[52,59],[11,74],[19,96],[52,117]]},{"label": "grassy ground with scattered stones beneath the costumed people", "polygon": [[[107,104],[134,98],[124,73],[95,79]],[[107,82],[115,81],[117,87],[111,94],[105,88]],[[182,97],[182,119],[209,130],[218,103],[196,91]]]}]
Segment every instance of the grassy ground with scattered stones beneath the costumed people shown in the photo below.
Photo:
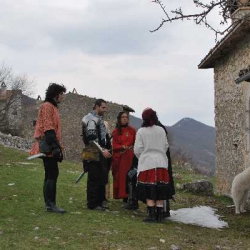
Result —
[{"label": "grassy ground with scattered stones beneath the costumed people", "polygon": [[[250,213],[235,216],[232,201],[177,192],[171,209],[208,205],[218,209],[229,227],[207,229],[166,220],[145,224],[145,205],[126,211],[110,200],[110,211],[86,209],[86,177],[74,184],[82,167],[63,162],[58,180],[58,204],[64,215],[46,213],[42,197],[43,167],[28,162],[27,153],[0,145],[0,249],[250,249]],[[27,164],[29,163],[29,165]],[[174,169],[185,182],[201,176]],[[202,177],[204,179],[204,177]]]}]

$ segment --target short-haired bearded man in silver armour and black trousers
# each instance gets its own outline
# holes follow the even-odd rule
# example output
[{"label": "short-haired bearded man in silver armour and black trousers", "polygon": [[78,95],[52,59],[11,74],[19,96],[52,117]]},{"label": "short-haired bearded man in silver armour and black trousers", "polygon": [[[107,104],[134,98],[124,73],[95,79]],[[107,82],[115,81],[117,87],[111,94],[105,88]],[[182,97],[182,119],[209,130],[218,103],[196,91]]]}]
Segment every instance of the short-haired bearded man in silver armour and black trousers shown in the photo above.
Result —
[{"label": "short-haired bearded man in silver armour and black trousers", "polygon": [[105,185],[107,184],[108,162],[111,154],[107,141],[107,130],[103,116],[107,111],[106,101],[97,99],[93,111],[83,117],[83,142],[85,144],[85,156],[83,164],[85,172],[88,172],[87,180],[87,207],[89,209],[104,210]]}]

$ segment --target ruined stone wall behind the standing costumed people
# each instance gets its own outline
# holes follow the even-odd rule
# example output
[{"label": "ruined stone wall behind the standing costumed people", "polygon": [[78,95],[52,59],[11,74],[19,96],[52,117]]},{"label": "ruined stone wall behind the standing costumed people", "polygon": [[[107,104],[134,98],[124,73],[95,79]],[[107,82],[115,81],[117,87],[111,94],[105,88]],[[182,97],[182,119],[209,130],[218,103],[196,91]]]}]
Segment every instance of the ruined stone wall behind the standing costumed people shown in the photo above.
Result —
[{"label": "ruined stone wall behind the standing costumed people", "polygon": [[[81,162],[82,126],[81,120],[84,115],[93,109],[95,98],[68,93],[63,102],[59,105],[59,113],[62,125],[62,142],[66,147],[65,159]],[[34,134],[33,120],[37,119],[38,110],[42,102],[35,106],[25,108],[23,111],[23,137],[32,139]],[[122,110],[120,105],[107,102],[108,113],[105,120],[109,122],[110,131],[115,127],[116,117]]]}]

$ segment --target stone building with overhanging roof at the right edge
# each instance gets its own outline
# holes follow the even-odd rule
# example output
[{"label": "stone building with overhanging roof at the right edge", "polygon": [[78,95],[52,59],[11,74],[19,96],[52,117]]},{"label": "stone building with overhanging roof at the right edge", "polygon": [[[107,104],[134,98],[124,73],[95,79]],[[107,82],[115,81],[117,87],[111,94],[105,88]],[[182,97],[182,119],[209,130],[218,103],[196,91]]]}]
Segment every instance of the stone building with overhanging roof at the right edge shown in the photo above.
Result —
[{"label": "stone building with overhanging roof at the right edge", "polygon": [[250,3],[237,4],[232,28],[198,66],[214,69],[215,187],[220,194],[229,194],[234,176],[250,165]]}]

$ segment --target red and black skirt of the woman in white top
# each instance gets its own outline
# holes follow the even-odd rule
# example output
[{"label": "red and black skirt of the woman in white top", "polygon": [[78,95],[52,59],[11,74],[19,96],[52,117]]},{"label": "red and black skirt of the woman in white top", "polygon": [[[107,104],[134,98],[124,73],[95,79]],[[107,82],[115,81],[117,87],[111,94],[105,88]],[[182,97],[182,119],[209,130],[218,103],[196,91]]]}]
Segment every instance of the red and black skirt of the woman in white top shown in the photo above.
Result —
[{"label": "red and black skirt of the woman in white top", "polygon": [[145,202],[149,200],[170,199],[169,174],[166,168],[154,168],[140,172],[136,187],[136,197]]}]

